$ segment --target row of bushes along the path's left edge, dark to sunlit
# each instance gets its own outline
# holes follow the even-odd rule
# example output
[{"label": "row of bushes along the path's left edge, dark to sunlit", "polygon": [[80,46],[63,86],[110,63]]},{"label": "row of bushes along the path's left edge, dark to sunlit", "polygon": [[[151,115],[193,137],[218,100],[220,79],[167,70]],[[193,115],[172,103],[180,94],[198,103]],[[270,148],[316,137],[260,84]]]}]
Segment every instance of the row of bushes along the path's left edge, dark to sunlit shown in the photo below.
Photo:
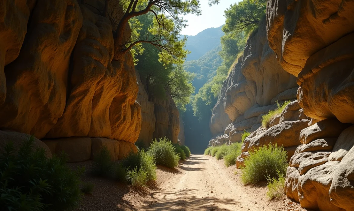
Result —
[{"label": "row of bushes along the path's left edge, dark to sunlit", "polygon": [[121,162],[113,162],[104,146],[95,157],[93,173],[130,182],[133,187],[144,187],[149,181],[156,180],[156,164],[174,168],[180,159],[189,156],[188,146],[173,145],[167,138],[153,140],[147,151],[143,147],[137,152],[131,151]]}]

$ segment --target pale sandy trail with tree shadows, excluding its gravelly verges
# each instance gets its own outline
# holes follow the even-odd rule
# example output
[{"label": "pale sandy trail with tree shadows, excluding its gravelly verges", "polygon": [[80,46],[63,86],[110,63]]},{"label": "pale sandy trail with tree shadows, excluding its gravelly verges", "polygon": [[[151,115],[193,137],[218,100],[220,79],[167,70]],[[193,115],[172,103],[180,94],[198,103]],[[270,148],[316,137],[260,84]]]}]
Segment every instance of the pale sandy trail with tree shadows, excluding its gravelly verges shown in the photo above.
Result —
[{"label": "pale sandy trail with tree shadows, excluding its gravelly verges", "polygon": [[180,172],[159,185],[163,191],[152,192],[138,210],[275,210],[265,209],[217,162],[192,155],[180,164]]}]

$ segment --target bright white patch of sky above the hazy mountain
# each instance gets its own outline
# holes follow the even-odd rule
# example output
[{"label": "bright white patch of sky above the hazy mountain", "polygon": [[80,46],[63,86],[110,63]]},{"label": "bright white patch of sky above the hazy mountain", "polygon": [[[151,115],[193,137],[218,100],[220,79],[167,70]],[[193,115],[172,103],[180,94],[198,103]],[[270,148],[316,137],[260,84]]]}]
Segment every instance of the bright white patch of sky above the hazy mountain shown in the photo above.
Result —
[{"label": "bright white patch of sky above the hazy mountain", "polygon": [[183,16],[188,20],[188,26],[182,29],[182,35],[196,35],[204,29],[217,28],[225,23],[224,11],[231,4],[240,0],[220,0],[218,5],[209,6],[208,0],[200,0],[200,8],[202,10],[200,16],[195,14],[187,14]]}]

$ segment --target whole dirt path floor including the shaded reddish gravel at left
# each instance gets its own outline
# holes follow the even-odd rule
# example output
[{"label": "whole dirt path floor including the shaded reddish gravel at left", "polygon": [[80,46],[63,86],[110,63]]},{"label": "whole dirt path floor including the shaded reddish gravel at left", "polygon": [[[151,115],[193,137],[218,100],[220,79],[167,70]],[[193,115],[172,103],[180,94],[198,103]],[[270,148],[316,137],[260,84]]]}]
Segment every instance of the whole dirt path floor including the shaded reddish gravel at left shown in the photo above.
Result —
[{"label": "whole dirt path floor including the shaded reddish gravel at left", "polygon": [[[80,165],[80,164],[79,164]],[[81,165],[90,166],[83,162]],[[234,171],[238,174],[234,174]],[[226,210],[226,211],[304,211],[290,199],[268,201],[266,184],[244,186],[240,170],[225,167],[223,160],[192,155],[179,167],[158,168],[158,179],[144,190],[134,190],[118,182],[84,176],[96,184],[92,195],[85,196],[78,210]]]}]

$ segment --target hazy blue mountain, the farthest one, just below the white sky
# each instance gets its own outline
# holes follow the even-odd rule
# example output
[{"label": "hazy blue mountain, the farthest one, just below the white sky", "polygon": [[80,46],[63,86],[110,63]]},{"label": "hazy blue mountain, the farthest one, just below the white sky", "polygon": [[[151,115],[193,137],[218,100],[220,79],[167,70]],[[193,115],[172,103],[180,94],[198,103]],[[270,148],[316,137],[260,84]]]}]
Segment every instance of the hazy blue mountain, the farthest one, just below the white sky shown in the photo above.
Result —
[{"label": "hazy blue mountain, the farthest one, just below the white sky", "polygon": [[220,38],[224,35],[221,27],[205,29],[197,35],[187,36],[185,49],[191,53],[187,55],[186,61],[198,60],[206,52],[218,47]]}]

